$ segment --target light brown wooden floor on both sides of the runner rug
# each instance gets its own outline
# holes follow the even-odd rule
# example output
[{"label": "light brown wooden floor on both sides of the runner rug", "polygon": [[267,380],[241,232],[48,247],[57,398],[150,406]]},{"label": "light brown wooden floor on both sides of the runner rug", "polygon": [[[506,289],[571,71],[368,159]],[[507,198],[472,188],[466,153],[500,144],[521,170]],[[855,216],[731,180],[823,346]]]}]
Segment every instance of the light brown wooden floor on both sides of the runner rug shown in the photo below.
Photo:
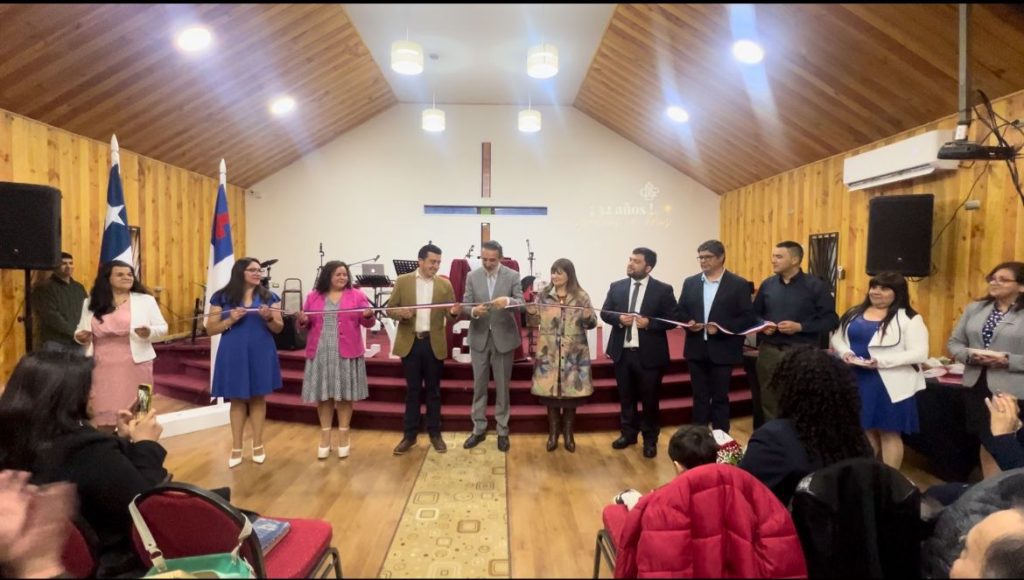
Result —
[{"label": "light brown wooden floor on both sides of the runner rug", "polygon": [[[732,436],[745,445],[751,425],[750,417],[734,419]],[[589,577],[601,509],[626,488],[646,493],[674,477],[667,454],[674,430],[663,429],[653,460],[645,459],[639,446],[612,450],[617,432],[579,434],[574,454],[561,447],[548,453],[545,434],[513,433],[507,463],[512,577]],[[427,438],[421,436],[418,448],[407,455],[394,456],[400,433],[353,431],[349,458],[318,461],[317,437],[314,425],[270,421],[266,462],[249,460],[247,440],[246,461],[230,470],[227,426],[163,444],[175,481],[229,486],[233,504],[267,516],[328,520],[345,575],[376,577],[427,453]],[[496,443],[492,430],[482,445]],[[939,483],[912,461],[908,457],[903,470],[920,487]]]}]

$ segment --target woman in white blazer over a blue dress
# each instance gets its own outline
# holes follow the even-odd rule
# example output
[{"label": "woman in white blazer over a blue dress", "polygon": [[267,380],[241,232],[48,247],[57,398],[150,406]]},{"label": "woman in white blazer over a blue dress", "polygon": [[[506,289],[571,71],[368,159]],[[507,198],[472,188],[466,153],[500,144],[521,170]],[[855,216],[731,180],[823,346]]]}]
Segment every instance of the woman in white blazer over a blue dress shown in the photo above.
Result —
[{"label": "woman in white blazer over a blue dress", "polygon": [[925,388],[921,364],[928,359],[928,328],[910,307],[906,279],[895,272],[871,278],[864,301],[840,320],[831,346],[857,378],[860,424],[874,455],[898,469],[900,433],[919,429],[913,395]]}]

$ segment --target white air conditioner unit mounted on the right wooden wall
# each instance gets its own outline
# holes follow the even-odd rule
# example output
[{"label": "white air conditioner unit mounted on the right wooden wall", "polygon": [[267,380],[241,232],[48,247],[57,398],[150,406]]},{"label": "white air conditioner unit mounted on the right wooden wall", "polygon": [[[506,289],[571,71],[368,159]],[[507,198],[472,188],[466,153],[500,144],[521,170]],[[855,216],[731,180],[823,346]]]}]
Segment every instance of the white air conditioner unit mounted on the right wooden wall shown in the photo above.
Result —
[{"label": "white air conditioner unit mounted on the right wooden wall", "polygon": [[952,138],[951,130],[940,129],[849,157],[843,161],[843,182],[855,192],[956,169],[958,161],[938,156],[939,148]]}]

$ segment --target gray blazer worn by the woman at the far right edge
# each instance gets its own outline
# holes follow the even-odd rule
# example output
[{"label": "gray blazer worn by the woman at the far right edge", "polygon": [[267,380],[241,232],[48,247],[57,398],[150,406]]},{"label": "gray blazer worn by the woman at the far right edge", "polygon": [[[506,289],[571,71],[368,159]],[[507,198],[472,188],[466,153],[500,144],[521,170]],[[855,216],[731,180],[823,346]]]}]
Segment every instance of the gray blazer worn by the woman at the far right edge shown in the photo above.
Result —
[{"label": "gray blazer worn by the woman at the far right edge", "polygon": [[[964,385],[974,386],[981,376],[984,367],[967,364],[968,348],[986,349],[981,342],[981,327],[988,315],[992,313],[994,302],[971,302],[964,309],[956,328],[949,336],[946,346],[949,354],[959,363],[964,363]],[[1009,312],[995,327],[992,344],[987,350],[998,350],[1010,354],[1010,367],[1006,369],[988,369],[988,388],[993,392],[1001,390],[1014,397],[1024,398],[1024,312]]]}]

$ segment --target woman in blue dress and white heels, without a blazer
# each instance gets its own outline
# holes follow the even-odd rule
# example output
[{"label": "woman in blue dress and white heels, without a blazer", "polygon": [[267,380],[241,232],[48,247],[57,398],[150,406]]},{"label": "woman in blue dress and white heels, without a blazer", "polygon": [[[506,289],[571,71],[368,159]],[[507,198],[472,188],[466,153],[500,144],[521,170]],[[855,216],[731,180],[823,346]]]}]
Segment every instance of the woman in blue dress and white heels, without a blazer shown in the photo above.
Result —
[{"label": "woman in blue dress and white heels, without a blazer", "polygon": [[270,333],[281,332],[285,323],[281,310],[270,309],[281,298],[260,285],[262,272],[256,258],[242,258],[231,267],[227,286],[210,297],[206,332],[210,336],[223,334],[215,359],[213,396],[223,397],[231,404],[228,467],[242,463],[246,419],[252,423],[253,461],[266,460],[263,449],[266,395],[281,388],[281,364]]}]

